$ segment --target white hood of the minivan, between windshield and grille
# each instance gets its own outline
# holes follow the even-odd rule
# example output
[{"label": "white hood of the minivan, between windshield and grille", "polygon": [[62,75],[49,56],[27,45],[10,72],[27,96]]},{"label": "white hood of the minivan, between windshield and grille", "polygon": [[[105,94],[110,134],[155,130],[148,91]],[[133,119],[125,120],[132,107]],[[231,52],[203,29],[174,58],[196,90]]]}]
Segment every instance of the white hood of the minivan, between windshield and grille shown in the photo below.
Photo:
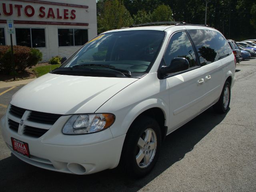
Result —
[{"label": "white hood of the minivan, between windshield and grille", "polygon": [[114,94],[136,80],[48,73],[21,88],[10,103],[53,114],[94,113]]}]

